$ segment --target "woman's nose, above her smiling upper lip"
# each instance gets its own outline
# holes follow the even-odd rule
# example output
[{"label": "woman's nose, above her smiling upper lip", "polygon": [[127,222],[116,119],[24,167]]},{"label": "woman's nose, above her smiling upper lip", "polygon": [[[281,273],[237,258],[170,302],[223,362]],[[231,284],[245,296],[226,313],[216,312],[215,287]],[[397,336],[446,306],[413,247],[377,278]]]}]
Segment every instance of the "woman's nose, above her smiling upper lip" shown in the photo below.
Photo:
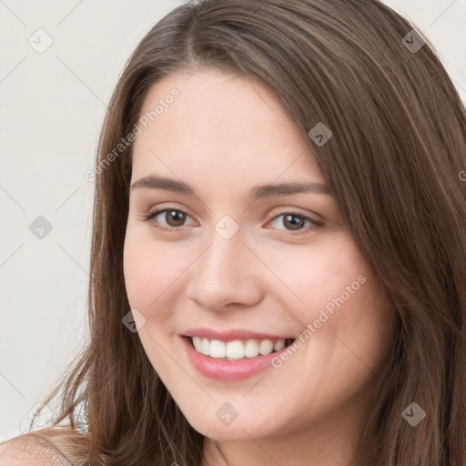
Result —
[{"label": "woman's nose, above her smiling upper lip", "polygon": [[223,238],[214,231],[190,267],[187,298],[202,309],[221,311],[228,305],[252,307],[262,298],[260,277],[266,270],[239,231]]}]

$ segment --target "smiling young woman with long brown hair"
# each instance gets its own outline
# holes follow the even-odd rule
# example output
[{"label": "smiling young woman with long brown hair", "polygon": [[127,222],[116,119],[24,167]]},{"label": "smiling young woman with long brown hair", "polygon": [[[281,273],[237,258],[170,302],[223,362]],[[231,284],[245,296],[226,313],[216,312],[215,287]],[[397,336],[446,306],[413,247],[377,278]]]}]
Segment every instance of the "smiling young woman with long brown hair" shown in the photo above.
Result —
[{"label": "smiling young woman with long brown hair", "polygon": [[386,5],[177,7],[99,141],[90,343],[2,464],[465,464],[465,170]]}]

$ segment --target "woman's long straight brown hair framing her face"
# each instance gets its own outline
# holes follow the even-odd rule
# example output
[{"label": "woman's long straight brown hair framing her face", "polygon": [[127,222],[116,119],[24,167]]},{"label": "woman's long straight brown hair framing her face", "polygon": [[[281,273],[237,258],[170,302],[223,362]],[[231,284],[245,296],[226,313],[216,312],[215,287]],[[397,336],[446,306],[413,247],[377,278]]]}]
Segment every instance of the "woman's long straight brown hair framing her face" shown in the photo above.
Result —
[{"label": "woman's long straight brown hair framing her face", "polygon": [[[74,464],[201,462],[204,437],[122,324],[132,144],[102,165],[152,85],[201,67],[258,78],[306,134],[318,123],[332,131],[309,145],[396,310],[355,464],[466,464],[466,113],[435,49],[412,29],[374,0],[201,0],[142,39],[98,144],[90,341],[46,400],[61,389],[54,425],[69,424],[60,446]],[[426,413],[415,427],[402,415],[412,402]],[[375,451],[366,448],[374,439]]]}]

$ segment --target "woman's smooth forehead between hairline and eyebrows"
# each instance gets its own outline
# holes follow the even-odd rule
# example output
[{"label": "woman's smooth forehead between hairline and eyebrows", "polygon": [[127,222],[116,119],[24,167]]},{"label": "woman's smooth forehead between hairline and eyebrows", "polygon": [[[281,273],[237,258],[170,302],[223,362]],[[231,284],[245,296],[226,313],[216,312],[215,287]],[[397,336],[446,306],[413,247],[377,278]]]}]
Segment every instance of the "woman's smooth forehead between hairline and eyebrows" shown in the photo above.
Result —
[{"label": "woman's smooth forehead between hairline and eyebrows", "polygon": [[147,127],[139,125],[134,145],[135,177],[171,168],[209,179],[262,174],[271,183],[304,172],[323,181],[309,137],[257,80],[213,69],[166,76],[147,93],[141,118]]}]

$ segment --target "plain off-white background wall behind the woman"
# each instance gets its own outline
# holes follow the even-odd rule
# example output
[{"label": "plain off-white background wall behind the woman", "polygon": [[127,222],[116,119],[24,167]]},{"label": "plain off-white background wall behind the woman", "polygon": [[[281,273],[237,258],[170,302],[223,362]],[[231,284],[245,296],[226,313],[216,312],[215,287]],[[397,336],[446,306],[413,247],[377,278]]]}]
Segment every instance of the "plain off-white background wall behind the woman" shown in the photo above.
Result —
[{"label": "plain off-white background wall behind the woman", "polygon": [[[0,0],[0,441],[27,430],[86,339],[94,186],[84,174],[127,57],[182,3]],[[385,3],[431,39],[466,102],[466,0]],[[39,28],[53,39],[44,53],[28,42],[46,45]],[[29,229],[39,216],[52,225],[44,238]]]}]

